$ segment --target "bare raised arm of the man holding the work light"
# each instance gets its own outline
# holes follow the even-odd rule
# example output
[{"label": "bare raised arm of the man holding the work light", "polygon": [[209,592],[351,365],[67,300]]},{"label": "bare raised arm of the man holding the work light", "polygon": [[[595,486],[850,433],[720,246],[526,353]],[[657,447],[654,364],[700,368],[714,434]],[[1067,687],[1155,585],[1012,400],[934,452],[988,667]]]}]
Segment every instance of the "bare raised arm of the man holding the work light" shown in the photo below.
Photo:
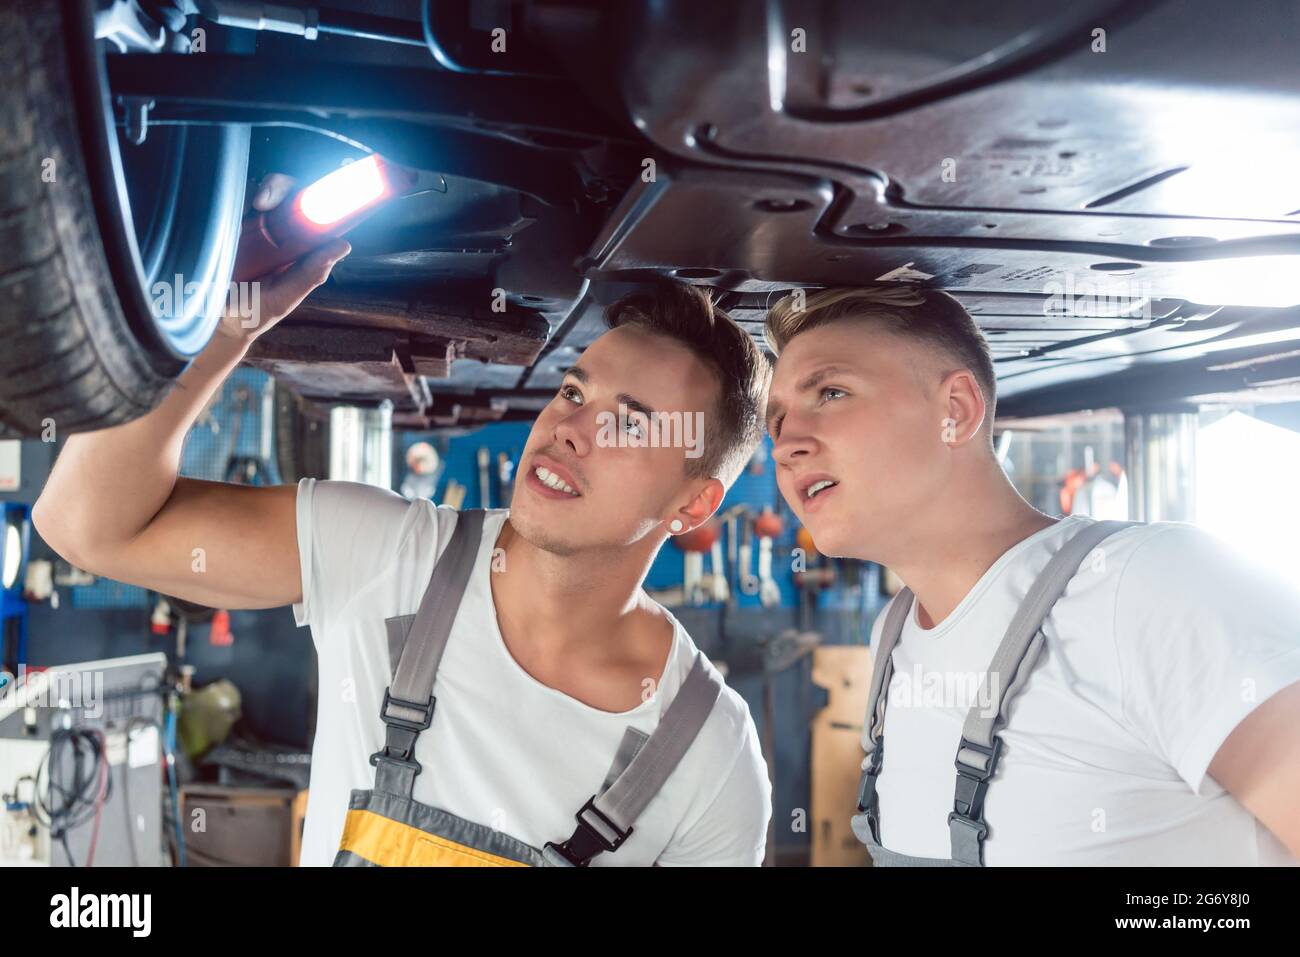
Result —
[{"label": "bare raised arm of the man holding the work light", "polygon": [[[289,181],[259,199],[276,205]],[[70,436],[31,520],[79,568],[224,609],[300,601],[294,485],[247,486],[178,477],[181,447],[252,341],[329,276],[350,251],[333,239],[260,287],[260,316],[226,316],[162,403],[125,425]],[[57,423],[56,423],[57,425]]]}]

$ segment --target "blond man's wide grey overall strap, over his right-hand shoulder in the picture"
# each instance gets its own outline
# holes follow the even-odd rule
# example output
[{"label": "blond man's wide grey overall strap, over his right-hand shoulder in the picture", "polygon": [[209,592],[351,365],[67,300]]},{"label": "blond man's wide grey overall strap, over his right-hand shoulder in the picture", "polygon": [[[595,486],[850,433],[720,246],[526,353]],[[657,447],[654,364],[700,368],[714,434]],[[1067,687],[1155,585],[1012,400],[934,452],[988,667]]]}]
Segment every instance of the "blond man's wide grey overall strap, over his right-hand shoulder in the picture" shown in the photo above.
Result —
[{"label": "blond man's wide grey overall strap, over his right-hand shoulder in the picture", "polygon": [[[1028,680],[1043,649],[1043,622],[1052,606],[1065,594],[1079,566],[1108,537],[1140,523],[1095,521],[1076,532],[1062,545],[1030,586],[1024,601],[1008,625],[993,662],[984,674],[976,703],[966,715],[962,740],[957,749],[957,789],[954,809],[948,815],[953,861],[958,865],[983,865],[983,843],[988,833],[984,823],[984,794],[997,770],[1002,740],[994,731],[1006,720],[1011,698]],[[991,702],[982,705],[980,702]],[[992,706],[996,702],[996,706]]]}]

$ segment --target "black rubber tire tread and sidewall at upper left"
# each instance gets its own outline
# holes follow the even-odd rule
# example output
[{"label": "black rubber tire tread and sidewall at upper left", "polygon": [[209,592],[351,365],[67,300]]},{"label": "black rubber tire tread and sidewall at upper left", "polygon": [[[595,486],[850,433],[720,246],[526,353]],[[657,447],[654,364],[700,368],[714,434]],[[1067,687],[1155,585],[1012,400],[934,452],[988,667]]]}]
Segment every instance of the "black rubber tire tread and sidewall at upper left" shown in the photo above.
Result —
[{"label": "black rubber tire tread and sidewall at upper left", "polygon": [[0,424],[32,437],[144,415],[187,364],[133,325],[105,255],[65,22],[83,13],[0,4]]}]

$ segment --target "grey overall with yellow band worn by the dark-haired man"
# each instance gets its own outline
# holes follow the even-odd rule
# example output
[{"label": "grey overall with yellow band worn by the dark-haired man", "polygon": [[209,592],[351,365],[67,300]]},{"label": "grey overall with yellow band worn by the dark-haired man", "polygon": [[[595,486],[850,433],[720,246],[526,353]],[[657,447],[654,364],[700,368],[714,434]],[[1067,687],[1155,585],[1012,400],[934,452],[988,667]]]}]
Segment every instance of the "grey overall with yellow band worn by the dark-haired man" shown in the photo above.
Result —
[{"label": "grey overall with yellow band worn by the dark-haired man", "polygon": [[352,791],[335,867],[372,866],[551,866],[585,867],[618,850],[632,826],[676,768],[722,690],[716,672],[697,651],[694,666],[647,736],[628,728],[599,791],[577,811],[577,828],[538,849],[503,831],[467,820],[412,798],[421,766],[420,732],[433,722],[434,677],[469,583],[482,538],[484,511],[459,514],[455,532],[434,566],[415,615],[385,620],[393,681],[380,716],[385,745],[370,755],[372,791]]}]

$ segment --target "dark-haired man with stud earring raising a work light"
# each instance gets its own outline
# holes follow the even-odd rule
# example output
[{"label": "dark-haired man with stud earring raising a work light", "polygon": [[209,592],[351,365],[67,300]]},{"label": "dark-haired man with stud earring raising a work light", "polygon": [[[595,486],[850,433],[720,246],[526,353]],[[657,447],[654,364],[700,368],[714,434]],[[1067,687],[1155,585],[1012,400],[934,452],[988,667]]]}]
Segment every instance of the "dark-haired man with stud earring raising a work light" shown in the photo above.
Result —
[{"label": "dark-haired man with stud earring raising a work light", "polygon": [[[268,277],[264,321],[224,324],[157,410],[73,436],[35,507],[42,536],[98,575],[225,609],[291,603],[311,625],[304,865],[760,863],[771,787],[749,709],[641,588],[762,438],[757,345],[692,287],[611,307],[533,424],[508,510],[178,477],[212,393],[347,250]],[[641,432],[627,408],[701,417],[698,455],[601,441],[611,415]]]}]

